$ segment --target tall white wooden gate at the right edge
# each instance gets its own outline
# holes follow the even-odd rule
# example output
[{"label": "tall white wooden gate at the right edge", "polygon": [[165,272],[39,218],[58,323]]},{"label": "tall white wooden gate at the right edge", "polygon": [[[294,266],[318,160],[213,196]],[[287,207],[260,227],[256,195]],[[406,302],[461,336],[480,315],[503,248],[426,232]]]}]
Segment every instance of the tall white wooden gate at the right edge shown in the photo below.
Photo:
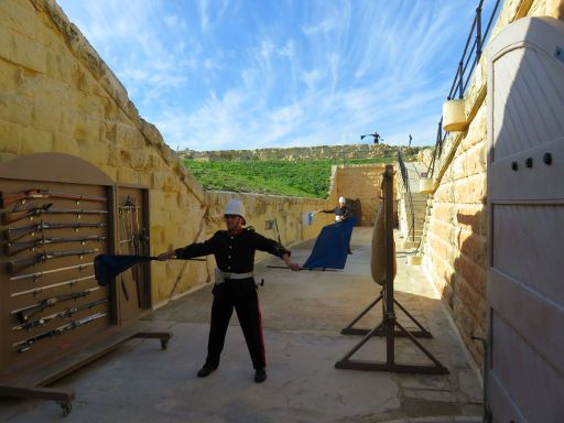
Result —
[{"label": "tall white wooden gate at the right edge", "polygon": [[494,422],[564,422],[564,22],[490,43],[489,355]]}]

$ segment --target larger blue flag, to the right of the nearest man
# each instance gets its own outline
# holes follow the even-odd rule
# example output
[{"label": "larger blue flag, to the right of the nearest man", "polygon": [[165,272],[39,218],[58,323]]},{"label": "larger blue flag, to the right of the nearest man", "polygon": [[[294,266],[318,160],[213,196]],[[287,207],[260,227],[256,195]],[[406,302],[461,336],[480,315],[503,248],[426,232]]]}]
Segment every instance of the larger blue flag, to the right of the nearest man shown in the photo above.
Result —
[{"label": "larger blue flag, to the right of the nearest man", "polygon": [[344,269],[356,221],[357,219],[351,216],[344,221],[324,227],[302,268]]}]

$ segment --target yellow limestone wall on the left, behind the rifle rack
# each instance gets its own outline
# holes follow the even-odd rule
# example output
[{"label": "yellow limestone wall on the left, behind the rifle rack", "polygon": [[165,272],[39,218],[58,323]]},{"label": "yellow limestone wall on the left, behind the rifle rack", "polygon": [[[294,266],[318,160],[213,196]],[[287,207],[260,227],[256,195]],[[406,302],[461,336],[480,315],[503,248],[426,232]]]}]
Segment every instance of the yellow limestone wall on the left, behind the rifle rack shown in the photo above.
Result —
[{"label": "yellow limestone wall on the left, behind the rifle rack", "polygon": [[[55,1],[2,0],[0,162],[37,152],[73,154],[117,182],[148,187],[153,254],[213,234],[231,196],[204,192]],[[243,197],[249,221],[263,231],[264,220],[276,216],[286,245],[316,236],[323,220],[303,228],[302,213],[328,204]],[[209,265],[153,262],[153,303],[210,280]]]}]

